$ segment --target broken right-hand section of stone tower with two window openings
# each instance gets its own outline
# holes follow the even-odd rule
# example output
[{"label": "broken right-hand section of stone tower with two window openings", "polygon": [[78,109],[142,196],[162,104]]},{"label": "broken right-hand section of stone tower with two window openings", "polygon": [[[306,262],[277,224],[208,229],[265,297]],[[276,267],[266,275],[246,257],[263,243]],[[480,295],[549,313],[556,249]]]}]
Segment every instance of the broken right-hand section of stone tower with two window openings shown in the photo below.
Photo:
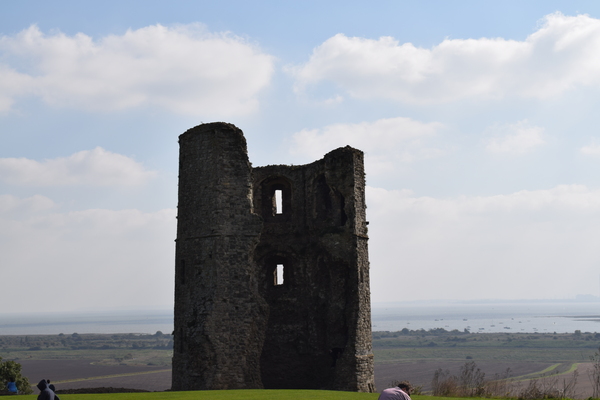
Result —
[{"label": "broken right-hand section of stone tower with two window openings", "polygon": [[264,219],[255,254],[270,310],[265,387],[374,390],[364,182],[363,154],[350,147],[305,166],[254,169]]}]

